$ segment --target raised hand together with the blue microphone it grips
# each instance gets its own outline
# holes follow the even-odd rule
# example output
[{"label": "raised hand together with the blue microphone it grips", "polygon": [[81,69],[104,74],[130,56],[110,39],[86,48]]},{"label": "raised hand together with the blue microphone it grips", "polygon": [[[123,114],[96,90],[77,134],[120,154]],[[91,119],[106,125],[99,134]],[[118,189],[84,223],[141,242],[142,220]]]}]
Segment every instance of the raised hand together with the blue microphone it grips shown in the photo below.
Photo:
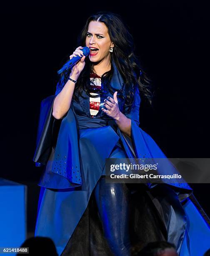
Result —
[{"label": "raised hand together with the blue microphone it grips", "polygon": [[78,77],[85,67],[85,56],[88,54],[90,54],[90,49],[88,47],[77,47],[73,54],[70,55],[70,60],[67,61],[57,73],[60,74],[72,67],[71,74]]}]

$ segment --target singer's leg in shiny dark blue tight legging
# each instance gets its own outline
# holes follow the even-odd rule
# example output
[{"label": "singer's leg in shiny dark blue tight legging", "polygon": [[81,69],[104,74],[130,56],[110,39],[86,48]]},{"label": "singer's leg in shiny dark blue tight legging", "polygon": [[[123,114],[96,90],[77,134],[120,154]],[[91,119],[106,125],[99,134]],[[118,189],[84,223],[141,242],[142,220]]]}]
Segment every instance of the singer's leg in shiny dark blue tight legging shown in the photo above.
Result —
[{"label": "singer's leg in shiny dark blue tight legging", "polygon": [[115,255],[130,255],[129,190],[125,184],[106,183],[103,176],[97,182],[94,194],[102,220],[104,236],[111,251]]}]

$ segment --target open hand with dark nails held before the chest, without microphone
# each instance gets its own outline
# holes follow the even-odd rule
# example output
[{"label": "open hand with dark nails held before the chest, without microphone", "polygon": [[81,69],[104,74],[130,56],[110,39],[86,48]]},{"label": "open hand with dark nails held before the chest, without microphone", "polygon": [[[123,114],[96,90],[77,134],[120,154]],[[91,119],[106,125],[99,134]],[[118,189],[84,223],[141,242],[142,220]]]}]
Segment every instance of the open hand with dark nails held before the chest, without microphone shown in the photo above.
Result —
[{"label": "open hand with dark nails held before the chest, without microphone", "polygon": [[107,97],[104,100],[104,106],[107,108],[102,108],[103,112],[105,112],[111,118],[118,120],[120,118],[120,110],[118,108],[118,100],[117,100],[117,92],[114,93],[113,99],[111,97]]}]

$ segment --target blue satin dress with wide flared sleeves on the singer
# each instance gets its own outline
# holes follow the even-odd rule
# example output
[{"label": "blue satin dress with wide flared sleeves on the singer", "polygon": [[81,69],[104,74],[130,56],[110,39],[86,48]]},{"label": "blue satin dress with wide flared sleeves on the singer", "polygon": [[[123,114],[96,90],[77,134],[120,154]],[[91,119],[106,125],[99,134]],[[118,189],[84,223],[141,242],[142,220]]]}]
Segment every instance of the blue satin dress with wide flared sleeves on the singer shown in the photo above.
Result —
[{"label": "blue satin dress with wide flared sleeves on the singer", "polygon": [[[111,85],[116,90],[125,93],[123,79],[114,61],[112,61],[112,67],[114,74]],[[70,241],[78,223],[81,222],[95,185],[100,177],[105,175],[106,158],[142,156],[166,158],[155,141],[139,127],[140,94],[137,89],[130,113],[124,108],[123,100],[118,100],[120,111],[131,119],[133,146],[130,146],[129,138],[117,128],[112,118],[101,110],[102,104],[99,112],[93,118],[90,115],[89,98],[83,99],[82,97],[79,98],[79,102],[72,100],[70,110],[62,119],[58,129],[55,146],[47,146],[50,145],[50,139],[46,137],[46,134],[51,136],[50,129],[55,125],[55,120],[52,118],[52,104],[60,90],[57,88],[54,96],[48,97],[42,102],[37,149],[34,157],[35,162],[42,163],[44,156],[47,156],[45,171],[39,182],[41,190],[35,236],[52,238],[59,255]],[[83,92],[83,96],[87,96],[85,92]],[[104,102],[107,96],[113,97],[107,92],[101,97],[100,102]],[[46,154],[46,152],[48,153]],[[173,167],[160,170],[160,174],[174,173],[177,171]],[[208,246],[201,248],[199,245],[197,248],[194,241],[209,239],[210,230],[195,205],[188,198],[192,189],[184,180],[183,183],[168,183],[168,180],[163,180],[163,182],[165,182],[163,186],[162,184],[157,186],[147,184],[147,194],[165,226],[166,235],[162,239],[175,243],[180,255],[202,255],[201,253],[207,250]],[[170,190],[173,200],[169,199],[167,195],[163,195],[164,186],[165,191],[167,186],[175,189],[175,192]],[[159,187],[162,190],[158,190]],[[133,193],[135,193],[135,189]],[[198,229],[198,226],[193,224],[194,220],[197,221],[197,224],[199,223],[200,238],[194,234]]]}]

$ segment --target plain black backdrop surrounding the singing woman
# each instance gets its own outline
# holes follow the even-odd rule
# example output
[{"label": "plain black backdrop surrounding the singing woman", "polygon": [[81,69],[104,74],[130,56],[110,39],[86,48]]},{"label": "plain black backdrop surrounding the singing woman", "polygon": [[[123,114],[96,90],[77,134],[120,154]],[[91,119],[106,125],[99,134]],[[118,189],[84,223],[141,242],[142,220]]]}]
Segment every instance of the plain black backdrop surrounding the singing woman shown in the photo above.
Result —
[{"label": "plain black backdrop surrounding the singing woman", "polygon": [[[155,88],[140,107],[141,128],[168,157],[209,157],[209,8],[197,1],[7,2],[1,4],[1,177],[28,185],[33,230],[42,172],[32,161],[42,99],[77,47],[87,17],[121,15]],[[209,184],[191,184],[210,215]]]}]

